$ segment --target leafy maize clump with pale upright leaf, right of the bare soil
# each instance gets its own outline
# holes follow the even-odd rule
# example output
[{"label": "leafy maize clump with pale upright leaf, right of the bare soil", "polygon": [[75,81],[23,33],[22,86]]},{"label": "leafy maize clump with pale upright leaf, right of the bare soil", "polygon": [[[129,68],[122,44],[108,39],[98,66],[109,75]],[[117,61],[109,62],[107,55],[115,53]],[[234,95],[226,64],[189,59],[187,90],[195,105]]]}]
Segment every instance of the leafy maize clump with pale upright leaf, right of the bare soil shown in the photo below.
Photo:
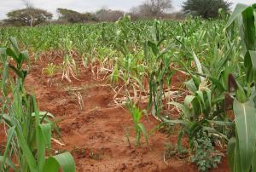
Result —
[{"label": "leafy maize clump with pale upright leaf, right of the bare soil", "polygon": [[[199,40],[203,40],[206,37],[205,31],[199,32]],[[194,33],[195,34],[195,33]],[[174,35],[172,34],[174,37]],[[178,124],[181,126],[181,130],[178,132],[177,146],[178,151],[183,152],[181,145],[181,139],[183,136],[189,137],[189,151],[192,154],[195,151],[195,140],[198,139],[198,134],[204,131],[208,135],[215,135],[214,140],[223,140],[225,144],[228,140],[226,134],[228,129],[232,128],[229,118],[226,118],[225,108],[225,92],[227,92],[227,74],[230,71],[234,71],[235,67],[232,66],[231,57],[235,52],[235,49],[230,47],[218,46],[213,47],[213,53],[211,55],[213,60],[202,60],[199,55],[195,54],[195,37],[187,37],[181,39],[180,37],[174,37],[174,40],[180,44],[184,49],[184,52],[191,57],[189,63],[193,62],[195,67],[191,67],[186,64],[187,60],[179,60],[177,54],[174,55],[174,61],[181,66],[183,72],[187,73],[190,77],[188,81],[184,82],[184,86],[188,90],[187,95],[183,102],[172,101],[167,104],[176,106],[181,111],[181,115],[177,120],[170,120],[162,118],[164,124]],[[199,41],[199,40],[196,40]],[[219,49],[223,49],[224,53],[220,53]],[[225,49],[229,51],[225,52]],[[201,55],[201,54],[200,54]],[[177,69],[174,69],[177,70]],[[221,126],[219,125],[221,121]],[[228,127],[226,127],[226,125]]]}]

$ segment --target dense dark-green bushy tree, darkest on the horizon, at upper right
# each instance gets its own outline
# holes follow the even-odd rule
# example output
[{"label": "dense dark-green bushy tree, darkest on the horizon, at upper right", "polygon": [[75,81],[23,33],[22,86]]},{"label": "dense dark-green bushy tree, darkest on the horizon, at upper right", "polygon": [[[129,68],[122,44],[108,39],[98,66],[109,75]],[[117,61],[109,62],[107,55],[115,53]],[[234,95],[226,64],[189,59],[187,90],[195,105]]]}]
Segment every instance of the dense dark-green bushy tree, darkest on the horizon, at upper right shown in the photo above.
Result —
[{"label": "dense dark-green bushy tree, darkest on the horizon, at upper right", "polygon": [[218,9],[230,11],[231,4],[224,0],[187,0],[183,3],[183,11],[185,14],[201,16],[205,19],[217,18]]}]

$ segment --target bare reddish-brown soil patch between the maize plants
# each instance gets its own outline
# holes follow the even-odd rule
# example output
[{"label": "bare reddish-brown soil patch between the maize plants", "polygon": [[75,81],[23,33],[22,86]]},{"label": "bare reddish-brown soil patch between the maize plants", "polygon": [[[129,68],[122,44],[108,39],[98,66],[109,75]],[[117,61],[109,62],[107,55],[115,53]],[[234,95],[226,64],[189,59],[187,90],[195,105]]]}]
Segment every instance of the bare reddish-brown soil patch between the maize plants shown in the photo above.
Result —
[{"label": "bare reddish-brown soil patch between the maize plants", "polygon": [[[134,146],[136,137],[131,128],[129,146],[124,128],[132,126],[131,115],[125,109],[110,106],[113,105],[113,91],[107,81],[94,80],[90,70],[81,67],[80,81],[61,82],[61,73],[58,73],[49,88],[48,77],[42,74],[48,63],[45,60],[34,64],[26,86],[37,96],[40,110],[55,115],[65,146],[54,143],[54,147],[59,152],[67,150],[73,154],[77,171],[197,171],[188,159],[173,157],[164,162],[164,145],[170,141],[175,144],[177,134],[167,137],[159,131],[154,132],[149,138],[152,149],[149,151],[145,140],[142,146]],[[79,100],[67,91],[67,87],[81,88],[79,92],[84,100],[82,110]],[[144,118],[143,123],[148,131],[158,124],[154,118],[149,121]],[[3,129],[0,129],[0,140],[3,140],[3,135]],[[212,171],[229,171],[226,159]]]}]

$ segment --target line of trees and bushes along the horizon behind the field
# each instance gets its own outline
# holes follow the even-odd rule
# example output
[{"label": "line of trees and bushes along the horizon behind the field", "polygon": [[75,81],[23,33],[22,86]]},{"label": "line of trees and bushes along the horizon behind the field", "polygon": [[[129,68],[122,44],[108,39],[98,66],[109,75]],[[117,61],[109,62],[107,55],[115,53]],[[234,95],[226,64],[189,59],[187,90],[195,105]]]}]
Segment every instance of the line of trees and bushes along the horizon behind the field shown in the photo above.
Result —
[{"label": "line of trees and bushes along the horizon behind the field", "polygon": [[25,0],[25,9],[17,9],[7,14],[7,19],[0,26],[38,26],[45,23],[67,24],[87,23],[102,21],[117,21],[124,14],[129,14],[131,20],[147,19],[175,19],[182,20],[185,14],[201,16],[203,18],[217,18],[218,9],[230,10],[230,3],[224,0],[203,1],[188,0],[183,3],[183,10],[173,12],[172,0],[147,0],[141,5],[134,7],[130,12],[102,8],[95,13],[80,13],[72,9],[56,9],[58,19],[53,20],[53,14],[44,9],[38,9],[30,1]]}]

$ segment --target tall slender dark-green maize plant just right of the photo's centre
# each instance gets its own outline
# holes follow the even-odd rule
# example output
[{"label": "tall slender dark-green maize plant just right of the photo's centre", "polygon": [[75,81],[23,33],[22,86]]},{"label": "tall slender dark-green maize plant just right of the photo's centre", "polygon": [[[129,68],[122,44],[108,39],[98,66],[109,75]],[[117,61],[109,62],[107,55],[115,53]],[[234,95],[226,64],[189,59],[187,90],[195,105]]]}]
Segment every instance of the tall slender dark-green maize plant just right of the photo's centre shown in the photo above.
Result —
[{"label": "tall slender dark-green maize plant just right of the photo's centre", "polygon": [[[165,95],[165,83],[169,89],[171,86],[172,70],[170,67],[171,55],[166,54],[169,48],[163,49],[163,42],[167,35],[160,32],[160,21],[155,20],[154,26],[150,27],[152,41],[144,43],[145,59],[149,64],[154,64],[149,73],[149,102],[152,114],[160,118],[163,110],[163,96]],[[153,52],[150,54],[149,49]]]}]

